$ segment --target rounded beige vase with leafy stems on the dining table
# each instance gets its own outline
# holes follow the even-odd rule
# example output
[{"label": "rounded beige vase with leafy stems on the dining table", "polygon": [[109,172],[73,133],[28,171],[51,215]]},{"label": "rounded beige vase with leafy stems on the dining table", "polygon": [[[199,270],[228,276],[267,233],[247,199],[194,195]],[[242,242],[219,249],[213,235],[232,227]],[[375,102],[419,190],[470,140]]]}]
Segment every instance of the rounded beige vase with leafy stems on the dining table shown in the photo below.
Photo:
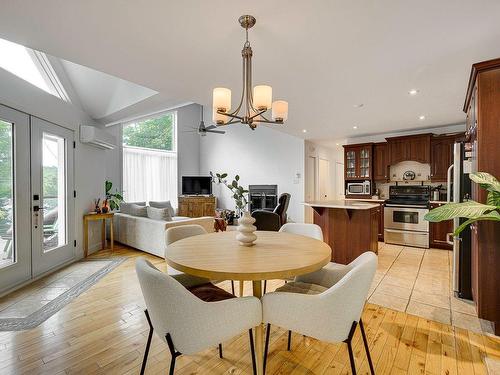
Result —
[{"label": "rounded beige vase with leafy stems on the dining table", "polygon": [[248,200],[246,197],[248,190],[240,185],[240,176],[234,176],[231,183],[226,180],[227,173],[214,174],[210,172],[210,176],[212,177],[212,182],[225,185],[233,194],[232,197],[236,205],[236,211],[240,217],[238,219],[239,233],[236,236],[236,239],[242,246],[252,246],[257,239],[257,236],[254,233],[257,228],[253,225],[253,223],[255,223],[255,219],[250,215],[250,212],[248,212]]}]

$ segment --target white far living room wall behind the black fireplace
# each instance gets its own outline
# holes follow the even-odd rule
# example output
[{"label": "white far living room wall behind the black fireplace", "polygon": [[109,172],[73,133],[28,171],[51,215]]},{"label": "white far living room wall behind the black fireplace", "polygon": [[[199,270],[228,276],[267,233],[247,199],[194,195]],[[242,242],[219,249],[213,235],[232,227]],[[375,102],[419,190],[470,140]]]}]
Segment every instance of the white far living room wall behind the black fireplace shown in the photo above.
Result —
[{"label": "white far living room wall behind the black fireplace", "polygon": [[[285,125],[286,126],[286,125]],[[200,173],[238,174],[243,186],[276,184],[278,193],[290,193],[288,217],[304,221],[304,141],[272,128],[235,124],[225,127],[226,134],[208,134],[201,138]],[[299,177],[297,178],[297,174]],[[225,187],[215,187],[218,206],[234,209],[234,201]]]}]

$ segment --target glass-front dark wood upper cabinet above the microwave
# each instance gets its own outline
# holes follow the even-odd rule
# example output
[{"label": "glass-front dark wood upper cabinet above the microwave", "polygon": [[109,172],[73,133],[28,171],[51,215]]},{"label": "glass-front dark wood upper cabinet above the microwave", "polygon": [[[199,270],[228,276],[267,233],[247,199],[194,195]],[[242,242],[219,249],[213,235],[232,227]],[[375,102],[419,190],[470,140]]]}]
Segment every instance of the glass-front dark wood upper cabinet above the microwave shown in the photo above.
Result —
[{"label": "glass-front dark wood upper cabinet above the microwave", "polygon": [[346,180],[371,180],[373,164],[373,144],[344,146]]}]

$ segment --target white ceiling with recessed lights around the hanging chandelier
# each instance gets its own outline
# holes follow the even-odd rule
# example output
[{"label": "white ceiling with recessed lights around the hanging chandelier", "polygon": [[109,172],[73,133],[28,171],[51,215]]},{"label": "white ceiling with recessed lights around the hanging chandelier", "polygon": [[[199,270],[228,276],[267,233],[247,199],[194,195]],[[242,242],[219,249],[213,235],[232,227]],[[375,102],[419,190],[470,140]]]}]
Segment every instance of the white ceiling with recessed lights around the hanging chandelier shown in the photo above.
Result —
[{"label": "white ceiling with recessed lights around the hanging chandelier", "polygon": [[137,111],[210,105],[213,87],[241,89],[246,13],[254,84],[289,101],[280,130],[310,139],[463,122],[471,64],[500,57],[497,0],[12,0],[0,38],[160,93]]}]

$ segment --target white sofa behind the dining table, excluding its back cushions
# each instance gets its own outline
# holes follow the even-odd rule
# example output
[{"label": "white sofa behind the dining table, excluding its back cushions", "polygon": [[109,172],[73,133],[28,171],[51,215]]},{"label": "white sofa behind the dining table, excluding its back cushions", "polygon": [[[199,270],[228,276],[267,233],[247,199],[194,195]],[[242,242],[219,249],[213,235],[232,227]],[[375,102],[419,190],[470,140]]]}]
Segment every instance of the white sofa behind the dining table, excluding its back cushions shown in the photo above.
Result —
[{"label": "white sofa behind the dining table, excluding its back cushions", "polygon": [[172,221],[164,221],[117,212],[114,221],[118,242],[162,258],[165,256],[165,231],[168,228],[198,224],[209,233],[214,231],[214,218],[209,216],[174,216]]}]

